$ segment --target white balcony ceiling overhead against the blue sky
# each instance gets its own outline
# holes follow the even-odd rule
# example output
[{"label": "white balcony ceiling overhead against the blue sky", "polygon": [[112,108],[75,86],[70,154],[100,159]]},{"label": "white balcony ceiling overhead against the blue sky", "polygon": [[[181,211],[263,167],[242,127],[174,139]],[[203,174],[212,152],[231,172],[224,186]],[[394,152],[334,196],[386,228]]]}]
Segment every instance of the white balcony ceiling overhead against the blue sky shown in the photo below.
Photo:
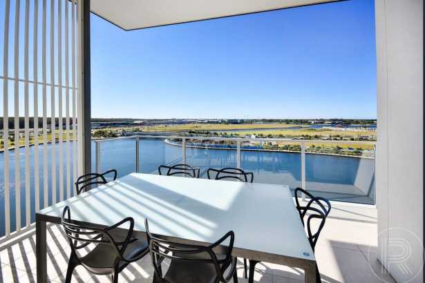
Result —
[{"label": "white balcony ceiling overhead against the blue sky", "polygon": [[91,0],[91,12],[124,30],[337,0]]}]

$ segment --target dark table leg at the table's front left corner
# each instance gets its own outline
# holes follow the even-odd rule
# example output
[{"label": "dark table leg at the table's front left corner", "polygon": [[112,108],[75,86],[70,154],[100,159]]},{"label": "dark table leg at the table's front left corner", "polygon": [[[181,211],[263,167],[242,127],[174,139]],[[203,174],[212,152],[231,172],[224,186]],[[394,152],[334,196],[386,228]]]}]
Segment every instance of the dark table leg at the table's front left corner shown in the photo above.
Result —
[{"label": "dark table leg at the table's front left corner", "polygon": [[47,282],[47,243],[46,222],[35,220],[35,259],[37,263],[37,283]]}]

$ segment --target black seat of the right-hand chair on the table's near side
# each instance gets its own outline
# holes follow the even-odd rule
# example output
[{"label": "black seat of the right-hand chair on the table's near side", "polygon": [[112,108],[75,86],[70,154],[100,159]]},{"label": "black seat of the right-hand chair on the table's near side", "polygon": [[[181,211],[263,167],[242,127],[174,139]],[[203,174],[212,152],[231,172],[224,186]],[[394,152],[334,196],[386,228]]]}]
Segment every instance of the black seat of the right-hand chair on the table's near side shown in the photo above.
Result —
[{"label": "black seat of the right-hand chair on the table's near side", "polygon": [[[224,260],[226,257],[225,255],[216,256],[217,260]],[[184,255],[184,257],[198,260],[211,259],[207,253]],[[214,264],[172,260],[164,280],[155,273],[153,275],[153,283],[214,283],[216,274]]]}]

